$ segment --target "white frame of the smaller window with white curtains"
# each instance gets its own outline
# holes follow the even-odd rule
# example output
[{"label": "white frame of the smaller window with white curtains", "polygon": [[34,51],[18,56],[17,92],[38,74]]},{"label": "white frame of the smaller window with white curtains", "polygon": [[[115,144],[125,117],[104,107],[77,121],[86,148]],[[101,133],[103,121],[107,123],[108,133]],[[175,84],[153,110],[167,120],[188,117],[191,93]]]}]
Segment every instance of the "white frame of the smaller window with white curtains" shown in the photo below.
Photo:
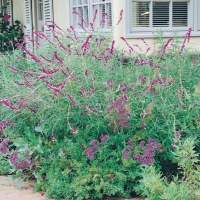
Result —
[{"label": "white frame of the smaller window with white curtains", "polygon": [[[94,17],[93,13],[94,13],[94,10],[93,10],[93,6],[98,6],[98,5],[101,5],[101,4],[111,4],[111,18],[112,18],[112,22],[113,22],[113,0],[105,0],[105,2],[93,2],[93,0],[88,0],[88,3],[87,4],[84,4],[84,5],[76,5],[74,6],[73,5],[73,2],[76,1],[76,0],[67,0],[68,1],[68,16],[69,16],[69,20],[68,20],[68,24],[69,26],[73,26],[74,27],[74,21],[73,21],[73,17],[75,14],[72,14],[73,12],[73,7],[83,7],[84,5],[88,6],[88,22],[92,22],[92,19]],[[78,16],[77,16],[78,18]],[[100,23],[100,21],[98,22]],[[80,26],[79,26],[80,27]],[[90,26],[88,26],[89,28],[88,29],[91,29]],[[84,27],[85,28],[85,27]],[[80,27],[78,28],[78,26],[75,26],[74,29],[77,31],[77,32],[84,32],[84,30]],[[87,28],[85,28],[87,30]],[[102,27],[97,27],[95,28],[95,30],[102,30],[102,31],[105,31],[105,32],[110,32],[112,27],[106,27],[106,28],[102,28]]]}]

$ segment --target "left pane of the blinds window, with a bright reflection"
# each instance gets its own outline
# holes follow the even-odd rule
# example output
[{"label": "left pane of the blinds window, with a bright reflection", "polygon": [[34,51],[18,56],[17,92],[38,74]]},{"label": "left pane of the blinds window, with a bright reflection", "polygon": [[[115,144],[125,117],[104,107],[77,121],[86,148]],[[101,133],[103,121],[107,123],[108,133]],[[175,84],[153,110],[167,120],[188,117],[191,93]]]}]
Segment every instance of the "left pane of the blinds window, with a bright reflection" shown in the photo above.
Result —
[{"label": "left pane of the blinds window, with a bright reflection", "polygon": [[149,27],[149,2],[132,1],[132,26]]}]

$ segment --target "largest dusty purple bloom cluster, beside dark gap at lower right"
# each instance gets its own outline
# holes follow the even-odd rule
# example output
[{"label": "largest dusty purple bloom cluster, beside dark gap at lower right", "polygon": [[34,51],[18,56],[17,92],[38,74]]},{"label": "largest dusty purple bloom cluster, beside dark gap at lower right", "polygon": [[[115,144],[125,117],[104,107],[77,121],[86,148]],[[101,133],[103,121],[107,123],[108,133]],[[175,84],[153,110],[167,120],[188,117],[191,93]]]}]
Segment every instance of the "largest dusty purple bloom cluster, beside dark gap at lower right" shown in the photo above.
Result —
[{"label": "largest dusty purple bloom cluster, beside dark gap at lower right", "polygon": [[145,145],[144,141],[140,142],[140,148],[142,149],[143,155],[136,153],[133,158],[136,159],[141,165],[150,165],[155,161],[154,154],[155,150],[161,151],[161,145],[156,140],[149,138],[148,144]]}]

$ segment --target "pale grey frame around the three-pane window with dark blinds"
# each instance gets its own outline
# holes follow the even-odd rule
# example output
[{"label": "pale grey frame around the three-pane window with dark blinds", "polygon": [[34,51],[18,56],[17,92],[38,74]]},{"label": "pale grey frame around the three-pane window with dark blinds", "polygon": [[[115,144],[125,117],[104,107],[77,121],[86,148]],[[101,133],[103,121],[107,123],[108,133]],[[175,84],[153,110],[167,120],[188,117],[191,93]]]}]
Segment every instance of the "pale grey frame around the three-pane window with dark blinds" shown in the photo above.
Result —
[{"label": "pale grey frame around the three-pane window with dark blinds", "polygon": [[[192,36],[200,36],[200,14],[197,12],[198,11],[198,6],[197,3],[199,3],[199,8],[200,8],[200,0],[182,0],[183,2],[188,1],[189,6],[188,6],[188,26],[187,27],[137,27],[133,28],[132,27],[132,1],[133,0],[126,0],[126,5],[125,5],[125,36],[126,38],[138,38],[138,37],[145,37],[145,38],[150,38],[150,37],[155,37],[156,35],[154,34],[156,31],[159,29],[163,30],[163,37],[171,37],[173,36],[174,32],[178,32],[179,36],[185,35],[185,32],[192,27]],[[161,0],[134,0],[137,2],[152,2],[152,1],[161,1]],[[165,0],[166,2],[169,2],[171,0]],[[177,2],[181,2],[181,0],[176,0]],[[200,11],[200,9],[199,9]],[[197,20],[197,15],[198,20]],[[152,16],[151,16],[152,17]],[[131,18],[131,20],[130,20]],[[129,20],[128,20],[129,19]],[[199,28],[197,28],[197,24]]]}]

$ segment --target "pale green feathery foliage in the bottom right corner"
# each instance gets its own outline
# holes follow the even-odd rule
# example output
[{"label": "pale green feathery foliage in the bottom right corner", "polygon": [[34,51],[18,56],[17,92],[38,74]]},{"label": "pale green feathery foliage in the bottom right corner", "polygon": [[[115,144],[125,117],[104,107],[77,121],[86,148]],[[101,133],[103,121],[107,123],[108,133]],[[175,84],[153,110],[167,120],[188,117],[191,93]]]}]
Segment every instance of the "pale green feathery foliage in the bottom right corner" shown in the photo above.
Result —
[{"label": "pale green feathery foliage in the bottom right corner", "polygon": [[149,200],[198,199],[196,192],[200,186],[199,155],[193,149],[194,139],[179,140],[173,154],[182,173],[169,182],[167,178],[163,178],[163,174],[155,169],[155,166],[144,167],[141,174],[142,179],[139,186],[136,187],[137,192],[147,196],[146,199]]}]

